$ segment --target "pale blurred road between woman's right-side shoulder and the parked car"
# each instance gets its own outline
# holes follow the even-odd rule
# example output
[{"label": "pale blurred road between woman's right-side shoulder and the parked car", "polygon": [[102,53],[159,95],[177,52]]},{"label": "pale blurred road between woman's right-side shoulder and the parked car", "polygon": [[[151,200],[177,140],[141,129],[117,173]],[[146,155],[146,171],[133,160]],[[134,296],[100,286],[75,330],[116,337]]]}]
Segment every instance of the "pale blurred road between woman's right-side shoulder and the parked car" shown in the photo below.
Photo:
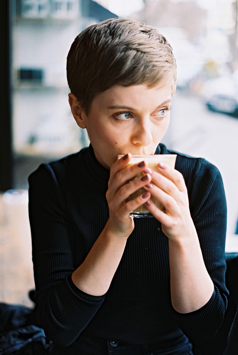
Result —
[{"label": "pale blurred road between woman's right-side shoulder and the parked car", "polygon": [[228,237],[235,233],[238,217],[237,137],[237,118],[212,112],[199,97],[177,90],[164,143],[178,152],[205,158],[220,170],[227,198]]}]

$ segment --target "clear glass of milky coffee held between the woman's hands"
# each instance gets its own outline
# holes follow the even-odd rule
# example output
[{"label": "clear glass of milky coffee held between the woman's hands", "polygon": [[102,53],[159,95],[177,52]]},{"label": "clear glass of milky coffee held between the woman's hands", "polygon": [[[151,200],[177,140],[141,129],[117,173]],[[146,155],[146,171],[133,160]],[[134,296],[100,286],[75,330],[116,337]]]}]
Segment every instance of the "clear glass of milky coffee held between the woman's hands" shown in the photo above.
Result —
[{"label": "clear glass of milky coffee held between the woman's hands", "polygon": [[[121,158],[121,157],[123,157],[123,155],[118,155],[118,158]],[[138,164],[144,160],[147,163],[147,166],[149,168],[151,168],[152,170],[158,171],[156,169],[156,166],[158,165],[158,163],[164,163],[164,164],[171,166],[171,168],[174,168],[176,157],[177,157],[176,154],[132,155],[132,158],[131,158],[128,165]],[[137,174],[132,180],[140,178],[142,175],[144,175],[144,174],[143,173]],[[146,190],[144,189],[144,187],[142,187],[141,189],[132,193],[126,201],[128,202],[128,201],[133,200],[135,197],[142,195],[142,193],[145,191]],[[164,211],[164,206],[162,205],[161,202],[159,202],[152,195],[151,195],[150,199],[153,203],[155,203],[155,205],[161,211]],[[136,217],[136,218],[153,217],[152,213],[150,213],[150,211],[146,208],[145,204],[142,204],[141,206],[137,207],[134,211],[132,211],[130,213],[130,216]]]}]

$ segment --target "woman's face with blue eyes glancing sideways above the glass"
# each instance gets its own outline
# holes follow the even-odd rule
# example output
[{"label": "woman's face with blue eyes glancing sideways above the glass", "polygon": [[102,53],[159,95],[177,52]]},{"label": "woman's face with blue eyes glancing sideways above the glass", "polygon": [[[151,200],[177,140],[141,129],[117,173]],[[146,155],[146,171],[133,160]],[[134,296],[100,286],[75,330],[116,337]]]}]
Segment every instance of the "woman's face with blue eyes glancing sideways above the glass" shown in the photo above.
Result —
[{"label": "woman's face with blue eyes glancing sideways above the glass", "polygon": [[118,154],[154,154],[169,125],[172,83],[113,86],[98,94],[81,118],[105,168]]}]

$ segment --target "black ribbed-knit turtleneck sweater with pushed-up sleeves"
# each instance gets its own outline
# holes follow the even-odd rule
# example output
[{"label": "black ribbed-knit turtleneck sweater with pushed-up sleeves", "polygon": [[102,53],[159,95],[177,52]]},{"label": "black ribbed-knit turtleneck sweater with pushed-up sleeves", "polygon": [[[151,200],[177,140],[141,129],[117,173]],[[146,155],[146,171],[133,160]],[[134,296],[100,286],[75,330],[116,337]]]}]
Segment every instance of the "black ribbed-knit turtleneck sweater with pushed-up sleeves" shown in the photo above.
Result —
[{"label": "black ribbed-knit turtleneck sweater with pushed-up sleeves", "polygon": [[29,176],[36,312],[54,342],[70,345],[83,332],[89,337],[164,348],[183,332],[199,344],[211,339],[221,326],[228,293],[221,175],[205,159],[168,150],[163,144],[156,154],[177,154],[175,169],[184,176],[191,216],[215,285],[210,301],[185,315],[174,311],[168,239],[155,218],[134,219],[135,229],[106,295],[85,294],[72,283],[72,272],[85,259],[109,215],[105,197],[109,171],[97,162],[90,146],[42,164]]}]

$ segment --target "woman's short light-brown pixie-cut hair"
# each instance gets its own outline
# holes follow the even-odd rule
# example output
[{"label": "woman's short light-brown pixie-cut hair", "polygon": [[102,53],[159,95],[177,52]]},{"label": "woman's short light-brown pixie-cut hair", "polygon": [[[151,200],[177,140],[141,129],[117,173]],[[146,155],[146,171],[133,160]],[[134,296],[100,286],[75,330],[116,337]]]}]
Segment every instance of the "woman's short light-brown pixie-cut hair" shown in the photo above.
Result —
[{"label": "woman's short light-brown pixie-cut hair", "polygon": [[135,20],[111,18],[84,29],[67,56],[67,81],[86,112],[93,98],[114,85],[172,82],[177,66],[172,47],[155,27]]}]

